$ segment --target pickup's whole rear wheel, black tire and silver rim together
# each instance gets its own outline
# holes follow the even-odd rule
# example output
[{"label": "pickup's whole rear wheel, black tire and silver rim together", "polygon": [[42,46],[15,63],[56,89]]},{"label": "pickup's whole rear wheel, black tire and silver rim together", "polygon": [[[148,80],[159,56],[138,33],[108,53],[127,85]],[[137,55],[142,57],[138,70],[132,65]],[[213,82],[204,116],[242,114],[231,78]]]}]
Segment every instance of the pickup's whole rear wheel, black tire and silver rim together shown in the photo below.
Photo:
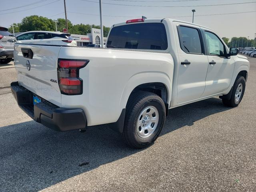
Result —
[{"label": "pickup's whole rear wheel, black tire and silver rim together", "polygon": [[166,109],[163,100],[151,92],[132,93],[126,105],[122,138],[133,148],[152,144],[164,126]]}]

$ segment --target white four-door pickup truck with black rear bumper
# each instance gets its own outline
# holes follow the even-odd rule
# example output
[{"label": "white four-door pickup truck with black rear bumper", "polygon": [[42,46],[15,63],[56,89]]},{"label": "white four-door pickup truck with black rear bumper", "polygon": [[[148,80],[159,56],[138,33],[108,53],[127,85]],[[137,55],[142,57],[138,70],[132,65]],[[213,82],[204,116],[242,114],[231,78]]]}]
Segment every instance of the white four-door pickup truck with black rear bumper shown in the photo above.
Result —
[{"label": "white four-door pickup truck with black rear bumper", "polygon": [[135,148],[152,144],[168,110],[220,96],[238,106],[249,62],[209,28],[188,22],[128,20],[106,48],[15,44],[18,105],[58,131],[110,124]]}]

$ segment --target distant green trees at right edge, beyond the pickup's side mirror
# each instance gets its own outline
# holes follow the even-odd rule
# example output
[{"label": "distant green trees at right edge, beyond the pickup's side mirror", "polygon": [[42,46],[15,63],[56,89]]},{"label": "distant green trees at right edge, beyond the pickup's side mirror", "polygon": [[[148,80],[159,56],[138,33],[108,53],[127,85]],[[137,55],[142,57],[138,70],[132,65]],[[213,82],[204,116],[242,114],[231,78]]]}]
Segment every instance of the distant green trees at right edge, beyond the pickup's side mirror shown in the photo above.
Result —
[{"label": "distant green trees at right edge, beyond the pickup's side mirror", "polygon": [[246,37],[232,37],[231,40],[226,37],[222,37],[222,40],[228,45],[228,47],[255,47],[256,38],[249,39]]}]

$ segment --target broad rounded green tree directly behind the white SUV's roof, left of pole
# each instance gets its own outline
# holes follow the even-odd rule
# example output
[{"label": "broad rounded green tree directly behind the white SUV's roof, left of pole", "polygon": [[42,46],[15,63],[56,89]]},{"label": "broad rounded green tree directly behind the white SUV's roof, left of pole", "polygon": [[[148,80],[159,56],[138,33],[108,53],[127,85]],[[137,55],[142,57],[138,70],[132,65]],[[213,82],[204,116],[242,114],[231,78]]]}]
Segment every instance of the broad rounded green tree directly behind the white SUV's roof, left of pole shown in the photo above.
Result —
[{"label": "broad rounded green tree directly behind the white SUV's roof, left of pole", "polygon": [[55,25],[51,19],[32,15],[22,19],[20,30],[22,31],[54,31]]}]

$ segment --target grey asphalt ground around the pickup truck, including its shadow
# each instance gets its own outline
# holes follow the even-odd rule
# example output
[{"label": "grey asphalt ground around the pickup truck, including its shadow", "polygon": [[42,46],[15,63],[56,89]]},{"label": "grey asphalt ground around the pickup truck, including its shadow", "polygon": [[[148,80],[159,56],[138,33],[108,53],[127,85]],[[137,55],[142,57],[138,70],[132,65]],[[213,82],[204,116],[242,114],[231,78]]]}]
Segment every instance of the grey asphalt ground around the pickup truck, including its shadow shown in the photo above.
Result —
[{"label": "grey asphalt ground around the pickup truck, including its shadow", "polygon": [[256,58],[240,105],[170,110],[154,145],[127,148],[107,125],[55,132],[16,104],[0,69],[0,191],[256,191]]}]

